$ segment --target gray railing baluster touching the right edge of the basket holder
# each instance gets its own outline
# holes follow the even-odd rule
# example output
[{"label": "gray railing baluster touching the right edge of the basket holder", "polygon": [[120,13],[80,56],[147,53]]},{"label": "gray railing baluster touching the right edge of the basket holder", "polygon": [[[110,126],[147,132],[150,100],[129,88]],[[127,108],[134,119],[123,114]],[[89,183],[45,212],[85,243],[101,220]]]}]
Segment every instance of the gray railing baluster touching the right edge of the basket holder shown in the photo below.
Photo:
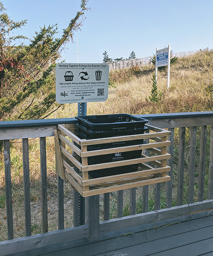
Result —
[{"label": "gray railing baluster touching the right edge of the basket holder", "polygon": [[173,150],[174,150],[174,128],[169,128],[171,135],[168,137],[168,140],[171,141],[171,145],[167,147],[167,152],[171,155],[170,159],[167,159],[167,165],[171,167],[170,172],[167,172],[167,175],[171,177],[170,181],[167,181],[166,187],[166,208],[172,207],[172,186],[173,186]]}]

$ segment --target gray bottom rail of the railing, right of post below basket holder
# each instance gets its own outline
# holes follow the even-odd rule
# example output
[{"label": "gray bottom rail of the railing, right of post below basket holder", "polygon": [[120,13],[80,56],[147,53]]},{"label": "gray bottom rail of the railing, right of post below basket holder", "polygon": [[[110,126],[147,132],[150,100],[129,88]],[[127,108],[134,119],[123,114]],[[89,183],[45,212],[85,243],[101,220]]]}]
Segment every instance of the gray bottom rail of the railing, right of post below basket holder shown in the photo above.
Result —
[{"label": "gray bottom rail of the railing, right of post below basket holder", "polygon": [[[196,204],[185,204],[181,206],[160,209],[153,212],[145,212],[141,214],[126,216],[119,219],[109,221],[100,221],[100,234],[108,233],[116,230],[122,230],[130,227],[141,226],[145,224],[156,223],[172,218],[178,218],[187,215],[187,219],[193,218],[193,214],[205,210],[213,209],[213,199]],[[206,215],[210,214],[206,212]]]}]

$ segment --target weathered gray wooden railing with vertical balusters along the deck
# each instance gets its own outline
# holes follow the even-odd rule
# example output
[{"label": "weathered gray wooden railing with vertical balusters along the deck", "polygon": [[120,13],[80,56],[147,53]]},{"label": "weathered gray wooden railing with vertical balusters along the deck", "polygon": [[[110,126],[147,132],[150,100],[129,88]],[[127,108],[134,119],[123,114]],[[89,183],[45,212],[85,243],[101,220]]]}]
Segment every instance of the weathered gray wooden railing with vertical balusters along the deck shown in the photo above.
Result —
[{"label": "weathered gray wooden railing with vertical balusters along the deck", "polygon": [[[0,255],[21,252],[23,250],[42,250],[42,247],[60,242],[87,237],[89,240],[98,239],[103,233],[123,230],[135,226],[177,218],[182,215],[191,215],[204,212],[213,208],[213,112],[196,113],[169,113],[143,115],[149,119],[149,124],[168,128],[171,131],[171,146],[168,153],[172,155],[167,160],[171,171],[167,175],[171,180],[166,183],[165,209],[161,209],[161,183],[154,185],[154,211],[149,209],[149,186],[144,186],[142,191],[142,213],[136,213],[136,188],[130,189],[130,216],[123,217],[123,191],[117,192],[117,218],[109,219],[109,193],[104,194],[104,221],[99,221],[99,195],[82,198],[78,192],[73,191],[73,218],[74,227],[64,229],[63,209],[63,179],[58,176],[58,230],[48,232],[47,217],[47,174],[46,174],[46,137],[54,136],[58,124],[75,123],[75,118],[45,119],[31,121],[8,121],[0,122],[0,140],[3,140],[4,165],[5,165],[5,189],[7,210],[7,233],[8,241],[0,242]],[[210,131],[210,134],[207,133]],[[190,133],[190,142],[186,140]],[[199,131],[200,144],[196,142],[196,131]],[[42,234],[31,236],[31,207],[30,207],[30,179],[29,179],[29,138],[40,138],[40,172],[41,172],[41,209],[42,209]],[[175,138],[175,143],[174,143]],[[13,207],[11,189],[11,163],[10,163],[10,140],[22,139],[23,148],[23,180],[24,180],[24,204],[25,204],[25,237],[14,239],[13,231]],[[208,148],[207,151],[207,141]],[[184,154],[189,151],[189,164],[184,166]],[[178,153],[173,157],[174,146],[178,144]],[[199,175],[196,178],[195,196],[195,160],[196,150],[199,154]],[[144,152],[146,154],[146,152]],[[206,167],[206,158],[209,158],[209,167]],[[173,193],[173,159],[176,159],[176,199]],[[207,195],[204,194],[205,172],[208,171]],[[184,186],[188,182],[187,195]],[[184,195],[183,195],[184,193]],[[186,200],[187,198],[187,200]],[[197,198],[194,200],[194,198]],[[174,202],[176,201],[176,202]],[[172,207],[173,205],[175,207]],[[2,218],[2,216],[1,216]],[[86,224],[85,224],[86,220]]]}]

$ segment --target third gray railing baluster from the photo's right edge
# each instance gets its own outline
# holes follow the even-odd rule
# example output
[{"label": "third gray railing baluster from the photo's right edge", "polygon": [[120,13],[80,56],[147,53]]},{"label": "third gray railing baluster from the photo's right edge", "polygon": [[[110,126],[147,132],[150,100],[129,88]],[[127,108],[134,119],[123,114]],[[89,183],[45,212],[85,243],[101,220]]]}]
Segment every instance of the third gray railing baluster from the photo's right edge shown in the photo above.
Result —
[{"label": "third gray railing baluster from the photo's right edge", "polygon": [[194,201],[194,178],[195,178],[195,152],[196,152],[196,126],[191,127],[190,134],[190,159],[189,159],[189,187],[188,203]]}]

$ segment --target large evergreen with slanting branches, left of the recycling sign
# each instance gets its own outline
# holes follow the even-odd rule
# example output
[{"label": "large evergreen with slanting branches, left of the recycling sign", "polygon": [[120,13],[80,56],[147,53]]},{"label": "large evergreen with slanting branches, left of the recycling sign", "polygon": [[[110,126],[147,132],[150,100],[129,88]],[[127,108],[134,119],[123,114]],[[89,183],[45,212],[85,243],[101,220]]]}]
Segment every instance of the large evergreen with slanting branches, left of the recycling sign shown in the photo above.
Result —
[{"label": "large evergreen with slanting branches, left of the recycling sign", "polygon": [[0,121],[46,118],[60,108],[55,101],[55,62],[66,43],[73,40],[85,18],[87,0],[81,0],[80,11],[56,38],[56,25],[43,26],[35,32],[29,45],[14,46],[10,37],[26,20],[14,22],[0,2]]}]

